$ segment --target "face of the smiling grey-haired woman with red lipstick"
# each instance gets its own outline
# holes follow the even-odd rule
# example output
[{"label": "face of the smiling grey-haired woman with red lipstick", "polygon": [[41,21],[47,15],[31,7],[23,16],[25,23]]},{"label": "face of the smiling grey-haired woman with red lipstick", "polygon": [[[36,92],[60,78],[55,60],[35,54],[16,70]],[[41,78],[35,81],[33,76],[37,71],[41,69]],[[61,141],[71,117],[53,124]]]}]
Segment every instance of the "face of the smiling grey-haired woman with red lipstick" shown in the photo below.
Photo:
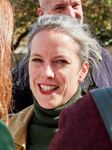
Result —
[{"label": "face of the smiling grey-haired woman with red lipstick", "polygon": [[79,81],[86,75],[76,45],[72,38],[57,31],[45,30],[33,37],[30,88],[41,107],[64,105],[76,93]]}]

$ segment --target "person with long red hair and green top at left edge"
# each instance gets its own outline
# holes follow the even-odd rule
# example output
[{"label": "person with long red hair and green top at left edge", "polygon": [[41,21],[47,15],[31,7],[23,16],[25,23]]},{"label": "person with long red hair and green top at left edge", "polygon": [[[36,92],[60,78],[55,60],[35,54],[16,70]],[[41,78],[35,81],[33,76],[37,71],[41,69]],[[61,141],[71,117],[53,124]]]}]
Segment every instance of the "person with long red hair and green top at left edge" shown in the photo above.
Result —
[{"label": "person with long red hair and green top at left edge", "polygon": [[[13,33],[13,11],[8,0],[0,0],[0,119],[6,115],[12,94],[11,41]],[[7,126],[0,120],[0,150],[14,150],[14,141]]]}]

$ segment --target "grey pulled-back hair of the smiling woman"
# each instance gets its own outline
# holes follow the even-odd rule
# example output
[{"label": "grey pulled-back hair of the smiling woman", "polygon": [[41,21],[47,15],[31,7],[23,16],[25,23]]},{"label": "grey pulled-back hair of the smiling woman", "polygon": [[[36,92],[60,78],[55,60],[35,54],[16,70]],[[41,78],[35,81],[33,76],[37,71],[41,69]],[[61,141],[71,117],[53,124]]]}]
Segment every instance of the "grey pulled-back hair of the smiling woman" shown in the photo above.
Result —
[{"label": "grey pulled-back hair of the smiling woman", "polygon": [[[100,46],[96,39],[93,38],[88,25],[80,25],[77,20],[74,20],[70,16],[44,15],[39,17],[37,23],[31,27],[27,44],[28,53],[23,58],[19,66],[19,84],[23,88],[27,87],[29,84],[28,63],[32,39],[35,34],[38,34],[43,30],[55,30],[68,35],[75,41],[74,50],[78,53],[80,64],[83,65],[85,61],[88,61],[89,68],[97,66],[97,63],[99,62],[98,53],[100,54]],[[76,43],[78,47],[77,49]],[[23,75],[23,77],[21,75]]]}]

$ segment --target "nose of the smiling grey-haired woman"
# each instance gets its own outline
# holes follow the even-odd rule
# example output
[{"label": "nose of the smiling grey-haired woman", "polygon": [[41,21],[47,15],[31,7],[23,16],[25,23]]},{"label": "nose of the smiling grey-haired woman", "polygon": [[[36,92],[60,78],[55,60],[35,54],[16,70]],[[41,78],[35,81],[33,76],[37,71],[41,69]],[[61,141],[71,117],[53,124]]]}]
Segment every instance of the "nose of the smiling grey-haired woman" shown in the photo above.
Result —
[{"label": "nose of the smiling grey-haired woman", "polygon": [[50,65],[45,65],[42,69],[41,76],[43,78],[54,78],[54,72]]}]

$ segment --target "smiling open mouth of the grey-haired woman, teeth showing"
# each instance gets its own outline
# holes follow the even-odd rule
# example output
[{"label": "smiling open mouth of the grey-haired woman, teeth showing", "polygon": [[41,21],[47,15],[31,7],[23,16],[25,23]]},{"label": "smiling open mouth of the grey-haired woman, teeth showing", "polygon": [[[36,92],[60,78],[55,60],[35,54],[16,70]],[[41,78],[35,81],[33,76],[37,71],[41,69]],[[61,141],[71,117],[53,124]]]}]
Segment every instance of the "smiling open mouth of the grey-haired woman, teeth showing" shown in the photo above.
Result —
[{"label": "smiling open mouth of the grey-haired woman, teeth showing", "polygon": [[58,86],[47,86],[42,84],[40,84],[39,87],[43,92],[51,92],[59,88]]}]

